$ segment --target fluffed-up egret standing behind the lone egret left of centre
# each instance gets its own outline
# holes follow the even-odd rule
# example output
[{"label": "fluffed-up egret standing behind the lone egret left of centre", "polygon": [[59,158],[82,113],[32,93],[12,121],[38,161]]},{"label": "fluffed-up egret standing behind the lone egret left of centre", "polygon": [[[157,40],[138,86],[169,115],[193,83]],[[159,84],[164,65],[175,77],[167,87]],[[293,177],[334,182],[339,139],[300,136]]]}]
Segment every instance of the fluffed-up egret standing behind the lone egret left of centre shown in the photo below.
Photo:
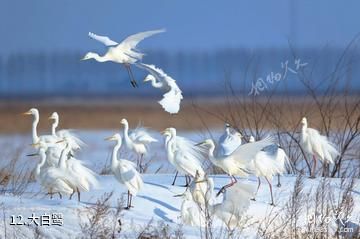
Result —
[{"label": "fluffed-up egret standing behind the lone egret left of centre", "polygon": [[122,119],[120,123],[124,126],[124,142],[125,146],[137,155],[137,164],[140,173],[142,173],[142,159],[147,153],[147,146],[150,143],[157,142],[151,137],[145,128],[137,127],[129,132],[129,123],[126,119]]}]

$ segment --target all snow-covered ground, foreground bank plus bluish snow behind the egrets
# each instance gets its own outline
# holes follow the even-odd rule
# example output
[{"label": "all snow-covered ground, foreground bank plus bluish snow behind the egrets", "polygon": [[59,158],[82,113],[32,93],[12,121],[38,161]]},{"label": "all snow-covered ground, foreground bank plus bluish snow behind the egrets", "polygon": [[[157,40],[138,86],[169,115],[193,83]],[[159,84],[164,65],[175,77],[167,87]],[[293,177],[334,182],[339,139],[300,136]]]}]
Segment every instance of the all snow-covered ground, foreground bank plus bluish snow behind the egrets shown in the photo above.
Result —
[{"label": "all snow-covered ground, foreground bank plus bluish snow behind the egrets", "polygon": [[[219,131],[220,132],[220,131]],[[110,163],[112,143],[106,142],[103,139],[112,135],[114,131],[86,131],[78,132],[78,135],[87,143],[87,146],[77,156],[78,159],[83,160],[86,164],[100,173],[107,168]],[[203,139],[200,133],[179,133],[179,135],[189,137],[198,142]],[[215,134],[215,137],[217,135]],[[182,225],[180,219],[180,210],[182,204],[181,197],[174,197],[176,194],[183,193],[185,188],[181,186],[172,186],[174,169],[169,165],[165,159],[163,149],[163,142],[161,136],[158,135],[159,143],[152,148],[151,155],[148,156],[150,167],[146,174],[143,175],[144,187],[139,194],[133,199],[134,208],[131,210],[123,210],[119,216],[121,220],[121,231],[118,232],[119,238],[134,238],[138,237],[146,225],[151,222],[155,226],[159,222],[172,231],[181,230],[184,238],[201,238],[203,237],[203,230],[199,227],[192,227]],[[28,135],[3,135],[0,137],[0,145],[3,150],[4,157],[11,157],[11,154],[17,149],[24,147],[24,150],[19,151],[20,163],[16,170],[32,170],[38,159],[30,159],[26,154],[32,153],[34,150],[29,146],[31,143],[30,132]],[[122,158],[126,158],[127,152],[121,152]],[[130,157],[130,156],[129,156]],[[5,164],[3,161],[1,164]],[[105,170],[106,171],[106,170]],[[229,182],[226,175],[212,175],[215,182],[215,190],[218,191],[223,185]],[[112,175],[99,175],[100,187],[90,192],[81,194],[81,201],[78,202],[76,196],[72,200],[60,200],[57,195],[53,199],[41,192],[39,185],[36,182],[30,183],[25,192],[21,195],[14,196],[11,192],[4,192],[0,195],[0,238],[34,238],[40,235],[40,238],[81,238],[81,224],[86,222],[90,215],[90,210],[87,208],[93,207],[99,198],[103,197],[105,193],[113,192],[109,200],[110,210],[115,210],[118,199],[126,199],[126,189],[120,185]],[[239,181],[257,186],[257,179],[250,177],[249,179],[241,178]],[[263,180],[260,187],[256,201],[251,201],[249,209],[244,212],[245,229],[241,232],[240,238],[256,238],[259,237],[259,227],[262,227],[264,221],[279,213],[279,218],[286,217],[288,212],[289,202],[293,196],[296,176],[285,175],[281,178],[281,187],[276,187],[277,178],[273,179],[274,199],[276,206],[269,205],[270,194],[269,188]],[[311,208],[306,210],[306,205],[313,202],[315,194],[319,190],[321,178],[308,179],[304,176],[302,183],[303,192],[303,206],[304,208],[299,213],[299,223],[306,225],[308,216],[311,215]],[[333,204],[341,200],[341,180],[329,179],[328,188],[334,196]],[[184,178],[181,176],[177,185],[183,185]],[[325,184],[324,184],[325,185]],[[1,187],[1,186],[0,186]],[[332,199],[326,198],[327,194],[321,194],[321,200]],[[354,225],[359,224],[360,215],[360,185],[355,181],[354,187],[351,189],[354,206],[350,217],[347,219]],[[222,196],[215,199],[221,202]],[[63,225],[51,226],[36,226],[31,225],[11,225],[12,222],[19,224],[29,224],[31,216],[63,215]],[[336,227],[336,217],[330,213],[331,221],[330,228]],[[21,216],[22,218],[19,218]],[[13,217],[13,218],[12,218]],[[21,220],[20,220],[21,219]],[[114,225],[117,225],[114,219]],[[40,219],[38,219],[40,222]],[[214,221],[214,234],[219,233],[224,229],[222,222]],[[146,237],[143,237],[146,238]],[[218,238],[218,237],[214,237]],[[237,237],[235,237],[237,238]]]}]

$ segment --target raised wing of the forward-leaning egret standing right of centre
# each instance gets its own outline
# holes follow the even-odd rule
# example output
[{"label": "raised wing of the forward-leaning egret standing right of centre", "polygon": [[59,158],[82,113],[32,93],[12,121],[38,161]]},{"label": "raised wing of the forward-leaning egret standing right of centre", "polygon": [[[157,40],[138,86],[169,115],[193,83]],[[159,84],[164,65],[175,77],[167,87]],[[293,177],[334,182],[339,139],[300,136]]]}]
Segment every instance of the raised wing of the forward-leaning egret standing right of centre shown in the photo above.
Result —
[{"label": "raised wing of the forward-leaning egret standing right of centre", "polygon": [[273,138],[268,136],[254,143],[240,145],[230,156],[239,161],[250,162],[260,150],[273,143]]}]

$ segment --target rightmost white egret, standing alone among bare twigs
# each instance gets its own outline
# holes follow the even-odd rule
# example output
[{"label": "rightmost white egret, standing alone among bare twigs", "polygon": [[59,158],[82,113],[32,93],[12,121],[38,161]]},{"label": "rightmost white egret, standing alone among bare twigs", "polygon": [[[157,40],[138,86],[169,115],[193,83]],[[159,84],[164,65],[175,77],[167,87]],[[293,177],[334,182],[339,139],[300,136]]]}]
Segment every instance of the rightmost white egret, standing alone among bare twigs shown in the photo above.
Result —
[{"label": "rightmost white egret, standing alone among bare twigs", "polygon": [[335,145],[331,143],[326,136],[320,135],[316,129],[308,128],[306,118],[301,120],[302,129],[300,144],[301,147],[313,156],[314,164],[310,178],[315,178],[316,157],[324,163],[334,163],[334,158],[340,153],[337,151]]}]

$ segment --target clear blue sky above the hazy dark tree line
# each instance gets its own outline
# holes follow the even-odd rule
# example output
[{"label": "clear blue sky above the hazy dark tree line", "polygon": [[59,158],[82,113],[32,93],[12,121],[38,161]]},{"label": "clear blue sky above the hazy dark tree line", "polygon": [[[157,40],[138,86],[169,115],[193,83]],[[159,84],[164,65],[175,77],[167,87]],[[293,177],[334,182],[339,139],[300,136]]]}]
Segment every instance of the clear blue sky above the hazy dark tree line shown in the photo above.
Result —
[{"label": "clear blue sky above the hazy dark tree line", "polygon": [[[104,4],[105,3],[105,4]],[[212,50],[346,45],[360,32],[360,1],[1,0],[0,54],[101,48],[88,31],[121,40],[166,28],[142,48]]]}]

